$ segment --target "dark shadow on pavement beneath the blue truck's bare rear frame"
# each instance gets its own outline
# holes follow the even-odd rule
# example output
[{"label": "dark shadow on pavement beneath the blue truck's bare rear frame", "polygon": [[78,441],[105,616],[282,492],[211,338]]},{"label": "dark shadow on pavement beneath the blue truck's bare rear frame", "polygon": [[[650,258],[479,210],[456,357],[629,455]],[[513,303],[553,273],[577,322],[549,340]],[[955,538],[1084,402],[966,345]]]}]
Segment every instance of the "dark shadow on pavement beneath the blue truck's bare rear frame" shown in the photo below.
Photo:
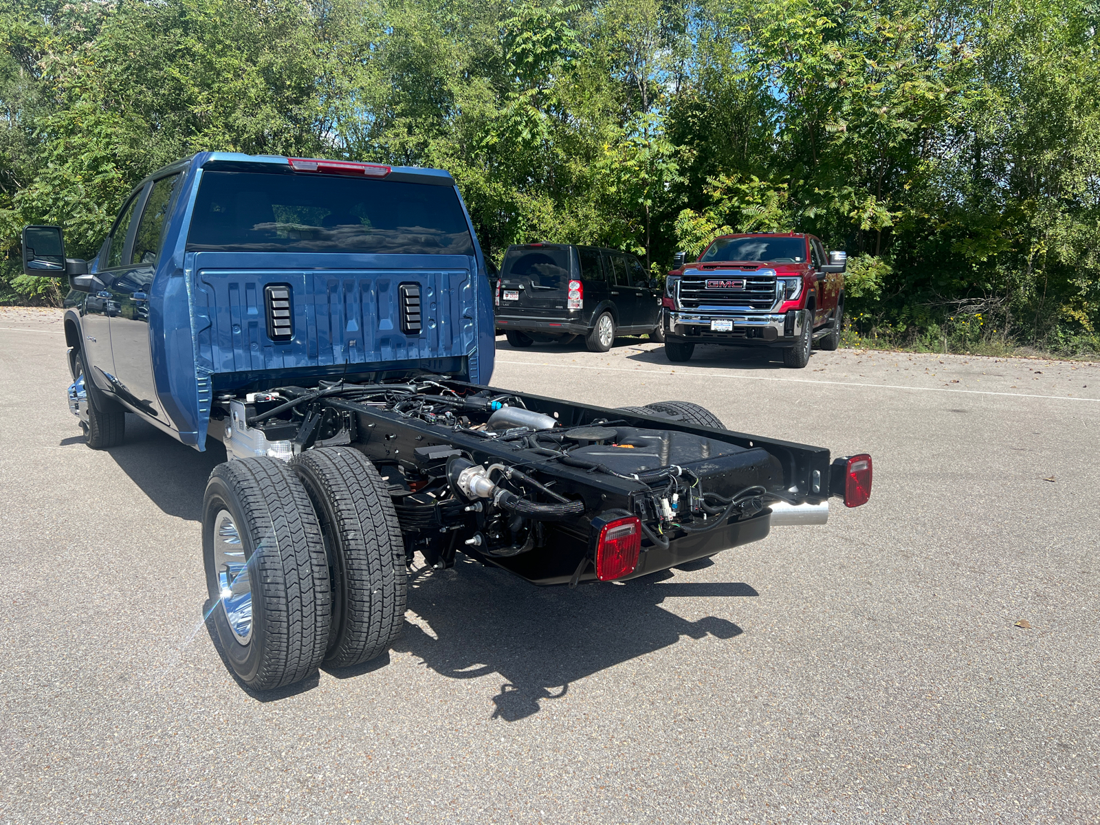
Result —
[{"label": "dark shadow on pavement beneath the blue truck's bare rear frame", "polygon": [[[681,618],[660,607],[664,600],[758,595],[744,583],[670,581],[675,578],[672,571],[625,585],[542,588],[459,558],[453,570],[411,575],[411,615],[394,650],[411,653],[451,679],[498,673],[504,682],[493,697],[493,717],[506,722],[538,713],[542,702],[562,698],[580,679],[674,645],[683,636],[726,640],[743,632],[717,616]],[[639,670],[647,668],[644,663]],[[642,672],[635,678],[653,676]]]}]

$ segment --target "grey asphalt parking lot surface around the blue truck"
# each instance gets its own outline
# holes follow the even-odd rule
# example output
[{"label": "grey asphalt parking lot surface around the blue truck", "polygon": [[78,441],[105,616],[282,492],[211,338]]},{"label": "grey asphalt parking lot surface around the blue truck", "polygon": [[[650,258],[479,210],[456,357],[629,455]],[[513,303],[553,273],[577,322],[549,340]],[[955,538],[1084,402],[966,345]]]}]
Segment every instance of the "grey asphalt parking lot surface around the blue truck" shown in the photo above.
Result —
[{"label": "grey asphalt parking lot surface around the blue truck", "polygon": [[1100,366],[620,344],[501,338],[493,384],[868,451],[870,503],[622,585],[460,557],[258,695],[201,615],[224,450],[89,450],[59,312],[0,311],[0,822],[1100,821]]}]

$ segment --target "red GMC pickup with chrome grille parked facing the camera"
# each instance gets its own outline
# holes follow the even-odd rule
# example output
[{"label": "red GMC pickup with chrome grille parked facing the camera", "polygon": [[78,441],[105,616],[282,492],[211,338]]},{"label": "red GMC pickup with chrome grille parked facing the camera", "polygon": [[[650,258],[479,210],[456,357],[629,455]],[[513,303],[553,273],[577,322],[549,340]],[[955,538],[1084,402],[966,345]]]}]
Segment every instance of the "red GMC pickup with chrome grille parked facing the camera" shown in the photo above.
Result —
[{"label": "red GMC pickup with chrome grille parked facing the camera", "polygon": [[816,341],[840,343],[847,254],[794,232],[722,235],[694,263],[678,252],[662,299],[669,361],[695,344],[778,346],[783,364],[803,367]]}]

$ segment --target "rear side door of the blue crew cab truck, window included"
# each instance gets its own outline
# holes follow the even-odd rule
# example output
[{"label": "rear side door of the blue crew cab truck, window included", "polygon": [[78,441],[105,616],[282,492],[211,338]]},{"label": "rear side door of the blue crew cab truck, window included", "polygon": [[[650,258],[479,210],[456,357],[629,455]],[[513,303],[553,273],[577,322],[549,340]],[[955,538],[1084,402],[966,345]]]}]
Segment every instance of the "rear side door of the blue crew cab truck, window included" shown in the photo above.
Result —
[{"label": "rear side door of the blue crew cab truck, window included", "polygon": [[111,317],[116,392],[138,409],[160,420],[164,410],[153,378],[148,330],[150,295],[160,260],[162,230],[180,175],[154,180],[141,205],[141,219],[125,253],[125,264],[112,271],[108,289],[118,311]]}]

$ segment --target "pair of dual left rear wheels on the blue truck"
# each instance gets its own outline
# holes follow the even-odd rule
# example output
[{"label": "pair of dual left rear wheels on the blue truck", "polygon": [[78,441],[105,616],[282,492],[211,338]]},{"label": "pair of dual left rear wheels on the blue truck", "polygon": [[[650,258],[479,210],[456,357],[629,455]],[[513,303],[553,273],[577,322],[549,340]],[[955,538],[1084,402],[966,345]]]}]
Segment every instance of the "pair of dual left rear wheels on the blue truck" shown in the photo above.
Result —
[{"label": "pair of dual left rear wheels on the blue truck", "polygon": [[202,508],[210,617],[233,672],[257,691],[346,668],[400,632],[406,571],[385,482],[356,450],[215,468]]}]

